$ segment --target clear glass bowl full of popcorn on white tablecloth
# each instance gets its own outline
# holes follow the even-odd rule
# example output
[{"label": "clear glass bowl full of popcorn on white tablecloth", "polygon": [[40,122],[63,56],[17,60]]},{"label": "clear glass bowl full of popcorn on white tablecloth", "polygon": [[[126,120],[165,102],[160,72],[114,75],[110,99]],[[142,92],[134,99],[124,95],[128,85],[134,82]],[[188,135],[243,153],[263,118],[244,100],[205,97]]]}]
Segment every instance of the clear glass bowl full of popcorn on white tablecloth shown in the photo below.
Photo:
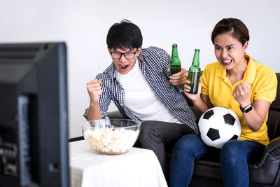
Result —
[{"label": "clear glass bowl full of popcorn on white tablecloth", "polygon": [[140,121],[129,119],[88,120],[82,124],[83,137],[98,153],[127,152],[137,141]]}]

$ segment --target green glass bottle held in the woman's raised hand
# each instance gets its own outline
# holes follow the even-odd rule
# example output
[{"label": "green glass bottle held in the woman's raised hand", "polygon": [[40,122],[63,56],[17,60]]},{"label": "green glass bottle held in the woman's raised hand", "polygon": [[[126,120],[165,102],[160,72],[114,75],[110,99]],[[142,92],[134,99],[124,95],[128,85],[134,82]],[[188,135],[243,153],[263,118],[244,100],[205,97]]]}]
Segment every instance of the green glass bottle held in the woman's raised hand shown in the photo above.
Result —
[{"label": "green glass bottle held in the woman's raised hand", "polygon": [[190,88],[189,93],[196,94],[198,90],[198,83],[200,82],[200,50],[195,49],[195,55],[193,55],[193,64],[188,70],[188,84]]}]

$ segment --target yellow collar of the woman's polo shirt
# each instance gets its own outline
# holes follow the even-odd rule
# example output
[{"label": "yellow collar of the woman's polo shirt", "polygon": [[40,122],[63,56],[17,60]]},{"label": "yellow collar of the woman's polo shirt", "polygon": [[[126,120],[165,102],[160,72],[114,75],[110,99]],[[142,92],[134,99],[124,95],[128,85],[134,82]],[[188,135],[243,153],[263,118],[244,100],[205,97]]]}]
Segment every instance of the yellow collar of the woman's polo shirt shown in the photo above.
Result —
[{"label": "yellow collar of the woman's polo shirt", "polygon": [[[256,74],[255,63],[250,55],[244,54],[244,57],[248,60],[248,64],[244,72],[243,80],[246,81],[247,83],[253,83]],[[220,66],[218,67],[217,76],[225,79],[226,74],[227,71],[220,64]]]}]

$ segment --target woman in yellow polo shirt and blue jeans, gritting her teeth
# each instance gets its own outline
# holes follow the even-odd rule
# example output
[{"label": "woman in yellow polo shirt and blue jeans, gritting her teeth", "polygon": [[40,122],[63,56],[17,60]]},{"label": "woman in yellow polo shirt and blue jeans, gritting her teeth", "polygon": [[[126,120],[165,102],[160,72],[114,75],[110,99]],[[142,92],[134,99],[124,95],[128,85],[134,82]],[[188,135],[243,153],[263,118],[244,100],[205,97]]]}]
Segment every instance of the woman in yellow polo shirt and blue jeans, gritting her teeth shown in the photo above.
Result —
[{"label": "woman in yellow polo shirt and blue jeans, gritting her teeth", "polygon": [[[262,154],[269,143],[266,121],[276,95],[276,75],[245,54],[249,34],[241,20],[221,20],[214,27],[211,40],[218,62],[205,68],[197,94],[188,93],[188,85],[184,93],[201,114],[214,106],[237,113],[241,135],[221,148],[223,183],[225,186],[248,186],[247,160]],[[188,186],[195,159],[202,158],[210,149],[197,134],[182,137],[172,153],[170,185]]]}]

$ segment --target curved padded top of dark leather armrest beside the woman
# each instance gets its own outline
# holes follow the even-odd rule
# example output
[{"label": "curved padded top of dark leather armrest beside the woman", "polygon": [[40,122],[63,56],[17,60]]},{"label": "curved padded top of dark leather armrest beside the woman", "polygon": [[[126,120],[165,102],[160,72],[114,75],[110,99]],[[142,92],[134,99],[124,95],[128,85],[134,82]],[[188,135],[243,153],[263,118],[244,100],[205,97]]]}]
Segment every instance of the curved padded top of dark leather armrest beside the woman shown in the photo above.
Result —
[{"label": "curved padded top of dark leather armrest beside the woman", "polygon": [[280,137],[276,137],[265,147],[265,151],[260,161],[256,164],[249,165],[250,169],[258,169],[266,163],[280,160]]}]

